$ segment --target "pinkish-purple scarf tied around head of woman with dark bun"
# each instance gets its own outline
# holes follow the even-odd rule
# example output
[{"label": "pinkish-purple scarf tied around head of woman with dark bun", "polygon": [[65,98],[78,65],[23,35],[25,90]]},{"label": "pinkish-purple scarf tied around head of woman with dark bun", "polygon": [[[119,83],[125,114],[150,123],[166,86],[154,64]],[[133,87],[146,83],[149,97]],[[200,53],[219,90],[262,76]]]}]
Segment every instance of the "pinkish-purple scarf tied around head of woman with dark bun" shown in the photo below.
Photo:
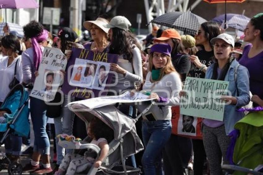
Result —
[{"label": "pinkish-purple scarf tied around head of woman with dark bun", "polygon": [[34,66],[36,70],[38,70],[40,59],[42,57],[42,51],[41,51],[39,43],[47,40],[47,38],[48,38],[48,31],[45,29],[38,36],[31,38],[32,48],[33,48],[33,53],[34,53],[33,61],[34,61]]}]

